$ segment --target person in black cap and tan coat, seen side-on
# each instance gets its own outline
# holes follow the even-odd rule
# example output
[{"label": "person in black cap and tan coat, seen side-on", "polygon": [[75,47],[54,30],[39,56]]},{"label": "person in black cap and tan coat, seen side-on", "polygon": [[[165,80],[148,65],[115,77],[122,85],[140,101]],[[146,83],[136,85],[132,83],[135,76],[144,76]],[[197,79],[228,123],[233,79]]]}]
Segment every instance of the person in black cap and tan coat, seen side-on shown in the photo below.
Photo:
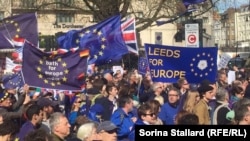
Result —
[{"label": "person in black cap and tan coat, seen side-on", "polygon": [[211,125],[208,103],[213,99],[213,89],[210,85],[201,85],[197,89],[201,99],[195,105],[194,113],[199,117],[200,125]]}]

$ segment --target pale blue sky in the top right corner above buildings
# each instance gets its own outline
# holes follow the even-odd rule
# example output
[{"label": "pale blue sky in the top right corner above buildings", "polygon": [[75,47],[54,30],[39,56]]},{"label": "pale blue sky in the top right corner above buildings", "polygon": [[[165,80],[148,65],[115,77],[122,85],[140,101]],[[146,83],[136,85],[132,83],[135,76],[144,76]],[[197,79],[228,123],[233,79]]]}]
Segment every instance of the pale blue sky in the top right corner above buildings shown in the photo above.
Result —
[{"label": "pale blue sky in the top right corner above buildings", "polygon": [[217,7],[220,12],[223,12],[230,7],[235,8],[246,4],[250,5],[250,0],[219,0],[219,2],[217,2]]}]

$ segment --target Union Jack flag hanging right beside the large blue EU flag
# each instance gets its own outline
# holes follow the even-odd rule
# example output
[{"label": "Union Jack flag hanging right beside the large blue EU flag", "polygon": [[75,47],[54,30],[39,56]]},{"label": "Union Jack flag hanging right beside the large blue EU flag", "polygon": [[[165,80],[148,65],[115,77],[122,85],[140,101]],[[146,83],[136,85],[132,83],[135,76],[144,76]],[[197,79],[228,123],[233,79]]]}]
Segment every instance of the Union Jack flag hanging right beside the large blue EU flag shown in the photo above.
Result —
[{"label": "Union Jack flag hanging right beside the large blue EU flag", "polygon": [[139,55],[135,31],[135,19],[130,18],[121,24],[122,35],[129,52]]}]

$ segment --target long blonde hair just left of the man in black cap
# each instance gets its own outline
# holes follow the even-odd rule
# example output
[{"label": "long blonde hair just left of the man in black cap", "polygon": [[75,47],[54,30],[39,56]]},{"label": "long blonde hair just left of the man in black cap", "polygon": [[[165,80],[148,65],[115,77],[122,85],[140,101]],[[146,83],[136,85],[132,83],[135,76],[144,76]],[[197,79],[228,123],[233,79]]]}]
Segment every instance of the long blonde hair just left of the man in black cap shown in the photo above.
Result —
[{"label": "long blonde hair just left of the man in black cap", "polygon": [[183,105],[183,110],[193,113],[194,106],[196,105],[196,97],[199,96],[197,90],[189,90],[187,93],[187,98]]}]

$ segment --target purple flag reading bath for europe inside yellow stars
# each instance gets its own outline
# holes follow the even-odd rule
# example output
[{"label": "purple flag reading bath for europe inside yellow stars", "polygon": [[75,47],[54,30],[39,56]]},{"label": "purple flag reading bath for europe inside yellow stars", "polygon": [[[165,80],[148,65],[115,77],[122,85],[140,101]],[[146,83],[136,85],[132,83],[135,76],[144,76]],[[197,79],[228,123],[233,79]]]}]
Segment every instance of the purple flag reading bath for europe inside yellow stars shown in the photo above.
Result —
[{"label": "purple flag reading bath for europe inside yellow stars", "polygon": [[80,57],[80,51],[83,50],[51,55],[25,42],[22,65],[24,82],[46,89],[82,90],[85,80],[78,77],[86,74],[88,55]]}]

